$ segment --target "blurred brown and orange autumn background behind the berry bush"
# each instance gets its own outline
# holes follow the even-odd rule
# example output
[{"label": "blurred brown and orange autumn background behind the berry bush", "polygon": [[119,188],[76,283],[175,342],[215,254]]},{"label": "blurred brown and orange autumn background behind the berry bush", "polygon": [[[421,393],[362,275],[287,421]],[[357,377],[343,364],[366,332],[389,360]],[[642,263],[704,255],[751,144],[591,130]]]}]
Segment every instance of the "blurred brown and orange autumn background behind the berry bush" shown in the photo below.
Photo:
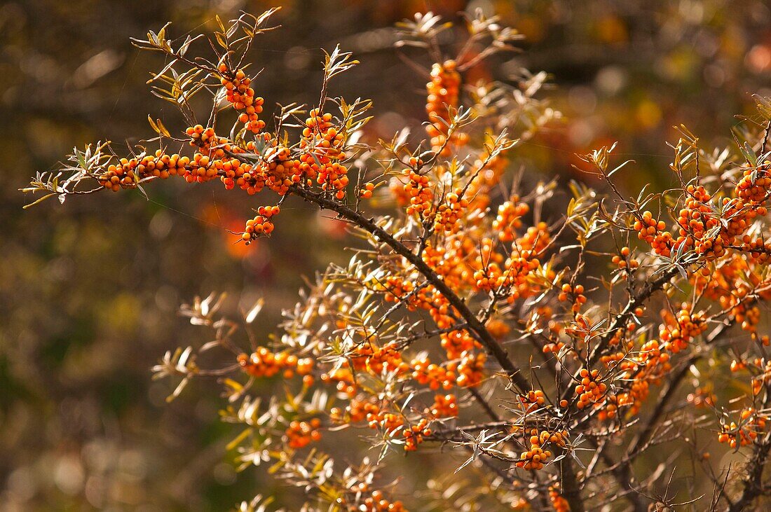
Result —
[{"label": "blurred brown and orange autumn background behind the berry bush", "polygon": [[145,84],[160,60],[140,55],[131,36],[167,20],[173,37],[210,30],[215,14],[277,4],[284,28],[253,53],[254,70],[265,69],[258,94],[268,105],[315,101],[322,49],[339,42],[362,65],[332,94],[375,101],[373,141],[425,115],[425,79],[393,49],[395,22],[426,10],[454,21],[473,8],[501,15],[526,36],[524,52],[469,78],[550,73],[548,95],[565,120],[515,150],[544,179],[577,177],[574,152],[618,140],[618,152],[638,162],[626,189],[665,185],[672,125],[726,144],[752,93],[771,95],[771,12],[754,0],[4,2],[0,509],[222,510],[271,494],[270,480],[236,474],[225,456],[235,431],[217,420],[217,385],[194,383],[167,404],[170,387],[150,380],[150,366],[166,350],[206,341],[176,313],[195,295],[227,292],[233,311],[264,296],[267,335],[303,276],[348,260],[342,226],[294,202],[269,241],[244,250],[227,229],[255,203],[218,186],[170,180],[150,186],[149,201],[103,193],[26,211],[17,189],[72,146],[110,139],[120,149],[150,136],[147,113],[183,128]]}]

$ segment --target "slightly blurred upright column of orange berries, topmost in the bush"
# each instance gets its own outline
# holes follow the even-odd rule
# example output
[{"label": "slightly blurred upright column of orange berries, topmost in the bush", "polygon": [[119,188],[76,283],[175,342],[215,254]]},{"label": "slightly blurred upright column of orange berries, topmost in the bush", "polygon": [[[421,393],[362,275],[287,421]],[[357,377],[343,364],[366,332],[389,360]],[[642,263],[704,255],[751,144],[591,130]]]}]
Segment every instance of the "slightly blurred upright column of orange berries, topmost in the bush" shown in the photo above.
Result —
[{"label": "slightly blurred upright column of orange berries, topmost in the bush", "polygon": [[[426,132],[431,137],[431,146],[434,151],[439,151],[445,146],[448,135],[449,108],[458,105],[460,96],[460,73],[456,71],[457,65],[453,60],[443,64],[436,63],[431,68],[431,82],[426,84],[426,112],[429,115],[429,125]],[[468,140],[467,134],[453,133],[452,140],[462,145]],[[443,154],[450,154],[449,147],[444,147]]]}]

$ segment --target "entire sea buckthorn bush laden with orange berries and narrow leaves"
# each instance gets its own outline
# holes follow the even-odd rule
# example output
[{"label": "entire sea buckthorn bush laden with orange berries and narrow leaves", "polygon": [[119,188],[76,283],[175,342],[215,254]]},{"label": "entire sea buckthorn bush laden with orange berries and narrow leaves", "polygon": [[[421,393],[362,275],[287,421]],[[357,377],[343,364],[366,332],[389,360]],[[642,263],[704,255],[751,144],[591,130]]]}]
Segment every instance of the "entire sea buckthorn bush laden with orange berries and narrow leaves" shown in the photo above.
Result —
[{"label": "entire sea buckthorn bush laden with orange berries and narrow leaves", "polygon": [[[268,29],[262,27],[272,12],[243,15],[227,27],[217,18],[219,31],[208,38],[210,59],[188,56],[199,37],[173,42],[167,27],[135,41],[167,57],[150,82],[155,94],[183,112],[184,136],[171,136],[163,122],[149,118],[160,146],[154,153],[138,146],[121,157],[106,144],[89,146],[76,150],[61,172],[39,175],[25,189],[44,192],[39,200],[62,200],[100,189],[143,192],[146,182],[170,176],[190,183],[218,179],[226,189],[250,195],[271,189],[279,196],[255,206],[254,217],[236,233],[244,243],[271,236],[285,199],[297,196],[334,212],[369,244],[355,250],[347,267],[330,265],[308,283],[267,341],[256,340],[249,325],[259,305],[243,313],[241,323],[220,316],[216,296],[187,306],[183,315],[214,330],[214,340],[169,351],[153,368],[156,376],[180,381],[171,396],[192,378],[222,377],[230,403],[223,420],[244,429],[231,444],[237,460],[274,460],[282,477],[309,486],[331,507],[401,510],[371,487],[369,467],[332,471],[330,460],[315,451],[328,433],[359,429],[372,433],[367,439],[383,454],[395,447],[411,452],[427,441],[458,443],[470,451],[467,464],[485,476],[484,485],[512,507],[551,504],[575,512],[625,497],[634,510],[644,510],[642,493],[652,484],[638,482],[632,465],[675,435],[681,416],[669,411],[679,383],[708,348],[726,351],[719,337],[736,326],[749,339],[745,349],[732,346],[731,370],[749,374],[752,396],[736,421],[724,413],[719,441],[748,452],[752,446],[741,495],[724,496],[731,508],[749,506],[763,490],[759,475],[771,444],[765,348],[771,339],[763,333],[760,308],[771,300],[771,243],[764,236],[771,121],[764,122],[759,151],[740,145],[746,163],[737,166],[730,152],[707,155],[681,127],[670,166],[679,186],[658,195],[643,190],[637,199],[625,198],[614,179],[629,162],[611,170],[614,148],[598,149],[584,160],[618,206],[608,212],[604,196],[571,183],[567,215],[554,222],[542,209],[555,182],[539,183],[530,193],[520,193],[518,183],[498,192],[507,188],[501,179],[513,158],[508,149],[558,117],[534,100],[545,75],[525,76],[514,87],[491,82],[463,89],[464,69],[510,49],[516,39],[496,18],[470,18],[470,37],[455,59],[443,55],[448,25],[438,17],[419,15],[402,25],[412,34],[409,44],[432,54],[428,137],[408,149],[404,130],[378,151],[359,142],[371,102],[328,98],[328,82],[356,63],[339,48],[326,55],[318,106],[308,112],[281,106],[275,130],[266,129],[264,99],[254,89],[256,75],[247,72],[246,54]],[[488,49],[479,48],[483,41]],[[189,101],[200,92],[212,96],[206,125],[195,122]],[[470,108],[463,104],[469,96]],[[333,104],[338,115],[325,111]],[[221,126],[230,118],[229,136],[223,136]],[[172,154],[167,146],[177,142],[186,147]],[[382,169],[369,169],[371,161]],[[349,177],[349,168],[358,169],[357,178]],[[707,176],[708,168],[715,176]],[[98,188],[85,187],[94,180]],[[371,216],[362,207],[389,192],[395,215]],[[645,209],[657,198],[657,212]],[[571,246],[564,245],[569,229],[577,241]],[[637,246],[630,234],[637,235]],[[611,278],[595,286],[597,261],[607,264],[602,275]],[[607,302],[599,297],[603,289]],[[658,303],[665,306],[660,320],[653,314]],[[705,334],[715,322],[721,325]],[[413,343],[431,339],[443,349],[438,359],[431,346],[407,355]],[[530,343],[544,364],[532,357],[514,363],[506,343],[525,349]],[[200,354],[214,348],[229,359],[205,367]],[[497,381],[501,373],[509,381],[505,389]],[[699,376],[683,403],[719,410],[715,375]],[[271,385],[283,386],[285,396],[251,397]],[[659,400],[652,403],[658,385]],[[507,401],[512,391],[515,399]],[[478,407],[466,407],[474,401]],[[480,413],[493,421],[470,425]],[[611,439],[629,443],[620,447]],[[589,448],[579,447],[584,440]],[[585,471],[573,465],[584,463],[578,450],[593,452]]]}]

